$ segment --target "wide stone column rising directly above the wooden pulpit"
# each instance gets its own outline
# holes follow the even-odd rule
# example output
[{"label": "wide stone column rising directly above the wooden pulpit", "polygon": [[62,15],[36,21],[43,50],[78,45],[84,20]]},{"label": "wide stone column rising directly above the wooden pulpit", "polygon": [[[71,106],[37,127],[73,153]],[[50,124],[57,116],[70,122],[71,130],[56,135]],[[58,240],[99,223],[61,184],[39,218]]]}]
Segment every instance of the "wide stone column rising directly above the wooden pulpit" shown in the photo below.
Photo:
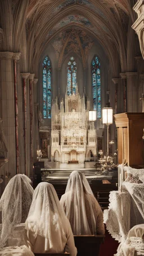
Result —
[{"label": "wide stone column rising directly above the wooden pulpit", "polygon": [[138,112],[137,72],[127,72],[127,112]]}]

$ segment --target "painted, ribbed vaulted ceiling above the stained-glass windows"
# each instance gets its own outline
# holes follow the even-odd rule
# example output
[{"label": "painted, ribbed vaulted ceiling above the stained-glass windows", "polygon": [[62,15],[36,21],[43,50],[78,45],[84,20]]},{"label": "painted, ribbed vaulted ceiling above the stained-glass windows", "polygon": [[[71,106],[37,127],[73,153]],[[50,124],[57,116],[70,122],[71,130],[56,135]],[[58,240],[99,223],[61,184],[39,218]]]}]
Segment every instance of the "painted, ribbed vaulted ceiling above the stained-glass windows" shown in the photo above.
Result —
[{"label": "painted, ribbed vaulted ceiling above the stained-glass windows", "polygon": [[[12,1],[13,14],[19,0]],[[119,53],[122,71],[127,68],[129,30],[136,20],[135,0],[30,0],[26,8],[26,42],[31,61],[52,43],[59,67],[64,55],[74,50],[86,64],[88,51],[95,40],[104,48],[115,69]],[[132,29],[131,29],[132,30]],[[133,33],[133,32],[132,32]],[[116,73],[116,70],[114,71]]]}]

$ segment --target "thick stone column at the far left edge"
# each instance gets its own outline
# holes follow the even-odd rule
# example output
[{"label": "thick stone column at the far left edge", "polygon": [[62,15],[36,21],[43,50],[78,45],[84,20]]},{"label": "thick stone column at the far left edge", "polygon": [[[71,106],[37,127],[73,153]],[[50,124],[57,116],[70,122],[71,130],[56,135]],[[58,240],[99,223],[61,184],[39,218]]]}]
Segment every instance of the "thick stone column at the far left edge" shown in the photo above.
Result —
[{"label": "thick stone column at the far left edge", "polygon": [[16,174],[16,137],[15,137],[15,91],[13,83],[13,52],[0,52],[0,118],[7,143],[8,162],[4,171]]}]

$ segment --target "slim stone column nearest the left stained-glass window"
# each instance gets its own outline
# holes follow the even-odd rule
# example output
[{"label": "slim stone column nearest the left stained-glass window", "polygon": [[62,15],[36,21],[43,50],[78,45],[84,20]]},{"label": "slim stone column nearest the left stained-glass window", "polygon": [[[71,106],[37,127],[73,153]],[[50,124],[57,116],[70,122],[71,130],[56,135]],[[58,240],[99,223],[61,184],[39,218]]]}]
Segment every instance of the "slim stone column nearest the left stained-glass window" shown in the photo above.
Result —
[{"label": "slim stone column nearest the left stained-glass window", "polygon": [[34,78],[34,160],[37,161],[37,149],[39,144],[38,130],[38,101],[37,101],[37,82],[38,78]]}]

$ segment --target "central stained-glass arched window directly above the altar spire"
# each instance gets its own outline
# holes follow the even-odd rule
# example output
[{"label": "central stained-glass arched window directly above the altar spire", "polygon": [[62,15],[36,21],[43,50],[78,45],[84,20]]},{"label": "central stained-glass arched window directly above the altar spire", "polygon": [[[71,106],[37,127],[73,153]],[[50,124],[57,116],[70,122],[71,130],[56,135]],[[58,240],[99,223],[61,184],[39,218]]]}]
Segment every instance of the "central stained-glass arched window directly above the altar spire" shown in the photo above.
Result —
[{"label": "central stained-glass arched window directly above the altar spire", "polygon": [[77,86],[77,63],[74,60],[74,57],[70,57],[68,61],[68,86],[67,93],[72,95],[76,91]]}]

